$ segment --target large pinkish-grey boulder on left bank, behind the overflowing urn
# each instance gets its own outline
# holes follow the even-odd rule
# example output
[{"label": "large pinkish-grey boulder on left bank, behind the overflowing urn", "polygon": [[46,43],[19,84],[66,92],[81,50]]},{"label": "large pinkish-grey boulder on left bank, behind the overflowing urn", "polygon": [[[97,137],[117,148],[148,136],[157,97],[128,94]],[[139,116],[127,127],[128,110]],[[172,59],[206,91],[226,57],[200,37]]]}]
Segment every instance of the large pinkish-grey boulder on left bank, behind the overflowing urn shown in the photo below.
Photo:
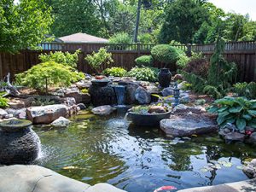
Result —
[{"label": "large pinkish-grey boulder on left bank, behind the overflowing urn", "polygon": [[26,115],[34,124],[50,124],[61,116],[67,116],[67,106],[56,104],[26,108]]}]

